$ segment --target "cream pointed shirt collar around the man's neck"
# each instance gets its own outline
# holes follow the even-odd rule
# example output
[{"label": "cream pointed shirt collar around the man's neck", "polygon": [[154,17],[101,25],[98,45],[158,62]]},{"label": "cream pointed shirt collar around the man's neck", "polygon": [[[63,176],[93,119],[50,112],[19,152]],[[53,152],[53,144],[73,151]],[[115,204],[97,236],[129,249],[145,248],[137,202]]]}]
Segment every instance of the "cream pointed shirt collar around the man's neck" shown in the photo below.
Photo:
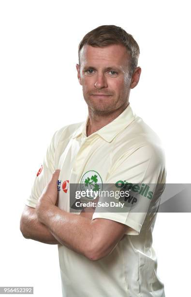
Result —
[{"label": "cream pointed shirt collar around the man's neck", "polygon": [[109,124],[102,127],[100,130],[92,133],[87,137],[86,128],[89,119],[89,116],[87,116],[86,121],[81,124],[81,126],[76,130],[76,132],[74,132],[73,138],[76,138],[81,134],[83,134],[83,136],[87,139],[92,135],[99,135],[105,141],[111,142],[118,135],[118,133],[120,133],[129,124],[131,124],[135,117],[136,115],[133,113],[129,103],[126,109],[120,115],[118,115],[118,117],[116,117],[112,122],[110,122]]}]

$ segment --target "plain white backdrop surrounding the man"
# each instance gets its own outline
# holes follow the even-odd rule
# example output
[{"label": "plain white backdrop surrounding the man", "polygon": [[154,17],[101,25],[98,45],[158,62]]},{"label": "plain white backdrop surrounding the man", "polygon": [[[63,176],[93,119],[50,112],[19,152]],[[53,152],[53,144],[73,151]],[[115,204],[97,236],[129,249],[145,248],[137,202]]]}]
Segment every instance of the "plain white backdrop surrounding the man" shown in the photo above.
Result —
[{"label": "plain white backdrop surrounding the man", "polygon": [[[61,297],[57,246],[24,239],[19,220],[53,133],[86,119],[75,64],[88,31],[114,24],[134,36],[142,74],[131,106],[163,141],[167,182],[191,182],[189,19],[186,0],[0,1],[0,286]],[[166,297],[190,291],[190,224],[189,213],[158,214]]]}]

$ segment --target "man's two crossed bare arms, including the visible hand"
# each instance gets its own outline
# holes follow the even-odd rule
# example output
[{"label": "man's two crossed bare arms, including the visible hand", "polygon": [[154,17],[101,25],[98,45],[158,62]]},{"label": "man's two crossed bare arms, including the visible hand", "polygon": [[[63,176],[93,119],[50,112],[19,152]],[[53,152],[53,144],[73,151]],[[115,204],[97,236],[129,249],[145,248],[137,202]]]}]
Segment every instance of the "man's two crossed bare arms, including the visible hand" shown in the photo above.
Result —
[{"label": "man's two crossed bare arms, including the visible hand", "polygon": [[55,171],[51,181],[39,198],[36,209],[26,206],[21,217],[23,236],[48,244],[61,244],[90,260],[108,255],[122,239],[128,226],[113,220],[96,218],[92,213],[72,214],[59,209]]}]

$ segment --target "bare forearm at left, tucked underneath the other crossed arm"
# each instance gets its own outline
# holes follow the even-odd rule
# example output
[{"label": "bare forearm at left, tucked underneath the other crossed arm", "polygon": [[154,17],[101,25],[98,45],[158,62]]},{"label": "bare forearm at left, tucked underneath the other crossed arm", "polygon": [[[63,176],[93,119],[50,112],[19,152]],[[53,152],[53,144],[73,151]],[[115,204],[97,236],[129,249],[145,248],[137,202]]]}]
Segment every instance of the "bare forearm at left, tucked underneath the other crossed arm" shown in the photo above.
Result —
[{"label": "bare forearm at left, tucked underneath the other crossed arm", "polygon": [[25,211],[22,215],[20,230],[27,239],[33,239],[51,245],[59,244],[48,228],[38,221],[35,209]]}]

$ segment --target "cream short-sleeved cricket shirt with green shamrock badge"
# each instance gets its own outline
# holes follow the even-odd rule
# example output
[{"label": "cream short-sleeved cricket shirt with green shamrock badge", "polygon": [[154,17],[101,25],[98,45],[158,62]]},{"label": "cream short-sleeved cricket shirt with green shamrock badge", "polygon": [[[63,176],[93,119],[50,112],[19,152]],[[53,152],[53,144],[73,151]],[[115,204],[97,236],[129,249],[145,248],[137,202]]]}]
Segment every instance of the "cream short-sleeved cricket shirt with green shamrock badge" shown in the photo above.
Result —
[{"label": "cream short-sleeved cricket shirt with green shamrock badge", "polygon": [[[36,176],[26,205],[35,207],[52,173],[59,168],[59,208],[70,211],[70,183],[83,183],[96,175],[103,184],[164,184],[164,155],[158,136],[133,114],[130,104],[115,120],[86,136],[88,117],[55,132]],[[93,181],[92,181],[93,182]],[[117,189],[117,188],[116,188]],[[63,297],[165,297],[157,275],[152,230],[162,188],[141,196],[144,212],[99,213],[131,227],[106,257],[91,261],[58,245]],[[152,196],[152,197],[151,197]],[[148,197],[148,198],[147,198]],[[154,208],[155,212],[148,212]],[[77,214],[76,214],[77,215]]]}]

